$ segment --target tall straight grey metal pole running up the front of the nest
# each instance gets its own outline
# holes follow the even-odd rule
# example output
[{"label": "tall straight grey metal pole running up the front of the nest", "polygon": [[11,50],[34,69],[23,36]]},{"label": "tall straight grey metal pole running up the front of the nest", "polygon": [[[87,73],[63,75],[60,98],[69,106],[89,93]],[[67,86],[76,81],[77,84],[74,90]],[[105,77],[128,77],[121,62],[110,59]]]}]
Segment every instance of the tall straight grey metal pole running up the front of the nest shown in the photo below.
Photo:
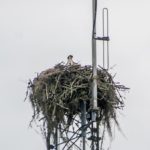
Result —
[{"label": "tall straight grey metal pole running up the front of the nest", "polygon": [[[92,67],[93,67],[93,87],[92,87],[92,109],[97,109],[97,57],[96,57],[96,0],[92,0],[93,12],[93,35],[92,35]],[[96,113],[92,112],[92,121],[96,120]]]}]

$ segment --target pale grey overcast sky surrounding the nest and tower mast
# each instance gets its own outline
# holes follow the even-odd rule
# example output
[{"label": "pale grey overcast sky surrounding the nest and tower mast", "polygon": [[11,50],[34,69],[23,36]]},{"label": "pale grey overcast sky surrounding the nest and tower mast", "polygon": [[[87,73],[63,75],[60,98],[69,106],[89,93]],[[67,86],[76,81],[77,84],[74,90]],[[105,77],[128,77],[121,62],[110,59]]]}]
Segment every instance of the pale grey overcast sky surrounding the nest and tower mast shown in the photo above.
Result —
[{"label": "pale grey overcast sky surrounding the nest and tower mast", "polygon": [[[150,150],[150,2],[98,0],[110,13],[110,65],[116,81],[131,88],[111,150]],[[0,149],[45,150],[28,128],[32,110],[23,102],[29,78],[69,54],[91,64],[92,0],[0,0]],[[98,32],[98,35],[101,33]],[[101,43],[98,42],[101,65]]]}]

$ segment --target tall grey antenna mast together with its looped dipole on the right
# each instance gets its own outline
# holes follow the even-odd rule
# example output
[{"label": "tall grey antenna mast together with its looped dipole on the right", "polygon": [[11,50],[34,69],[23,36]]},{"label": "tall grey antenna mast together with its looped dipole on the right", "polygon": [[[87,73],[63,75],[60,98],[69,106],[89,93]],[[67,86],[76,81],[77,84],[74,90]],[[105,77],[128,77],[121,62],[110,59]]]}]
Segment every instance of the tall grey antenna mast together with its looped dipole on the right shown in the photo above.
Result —
[{"label": "tall grey antenna mast together with its looped dipole on the right", "polygon": [[[103,41],[103,68],[109,69],[109,18],[108,9],[103,8],[102,10],[102,37],[96,35],[96,19],[97,19],[97,0],[92,1],[92,13],[93,13],[93,31],[92,31],[92,68],[93,68],[93,85],[92,85],[92,100],[91,100],[91,114],[92,114],[92,125],[91,125],[91,150],[99,150],[99,121],[96,121],[98,114],[97,110],[97,52],[96,52],[96,41]],[[105,48],[106,45],[106,48]],[[105,56],[106,54],[106,56]]]}]

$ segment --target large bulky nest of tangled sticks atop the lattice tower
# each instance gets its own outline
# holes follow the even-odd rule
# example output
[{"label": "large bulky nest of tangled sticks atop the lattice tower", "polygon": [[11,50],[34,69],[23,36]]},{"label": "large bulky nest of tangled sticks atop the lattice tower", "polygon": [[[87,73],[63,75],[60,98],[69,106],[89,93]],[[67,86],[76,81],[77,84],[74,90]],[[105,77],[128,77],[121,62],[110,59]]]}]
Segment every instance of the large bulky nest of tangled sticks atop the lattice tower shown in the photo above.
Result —
[{"label": "large bulky nest of tangled sticks atop the lattice tower", "polygon": [[[42,128],[53,133],[56,126],[71,126],[73,118],[81,114],[81,101],[90,110],[92,99],[92,67],[62,63],[41,72],[28,86],[33,120],[43,120]],[[97,68],[98,121],[106,125],[111,135],[111,121],[117,125],[116,110],[124,107],[120,91],[127,88],[113,81],[107,70]]]}]

